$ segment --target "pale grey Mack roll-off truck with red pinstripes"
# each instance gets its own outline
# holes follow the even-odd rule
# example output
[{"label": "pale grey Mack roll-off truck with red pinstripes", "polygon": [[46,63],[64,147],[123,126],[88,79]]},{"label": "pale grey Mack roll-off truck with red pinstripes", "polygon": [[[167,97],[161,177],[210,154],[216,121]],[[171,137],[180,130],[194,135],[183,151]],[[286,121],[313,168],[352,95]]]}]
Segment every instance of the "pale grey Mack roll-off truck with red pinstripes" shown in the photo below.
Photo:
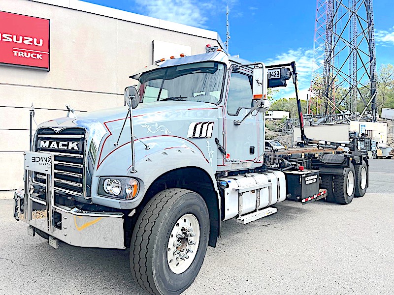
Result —
[{"label": "pale grey Mack roll-off truck with red pinstripes", "polygon": [[[128,108],[77,118],[69,109],[37,127],[14,196],[13,216],[29,235],[54,248],[59,240],[130,248],[135,281],[173,295],[193,283],[222,221],[246,224],[285,200],[349,204],[365,193],[362,137],[340,144],[305,136],[295,62],[245,64],[215,51],[131,78],[138,84],[125,89]],[[264,150],[266,90],[290,79],[304,147]]]}]

